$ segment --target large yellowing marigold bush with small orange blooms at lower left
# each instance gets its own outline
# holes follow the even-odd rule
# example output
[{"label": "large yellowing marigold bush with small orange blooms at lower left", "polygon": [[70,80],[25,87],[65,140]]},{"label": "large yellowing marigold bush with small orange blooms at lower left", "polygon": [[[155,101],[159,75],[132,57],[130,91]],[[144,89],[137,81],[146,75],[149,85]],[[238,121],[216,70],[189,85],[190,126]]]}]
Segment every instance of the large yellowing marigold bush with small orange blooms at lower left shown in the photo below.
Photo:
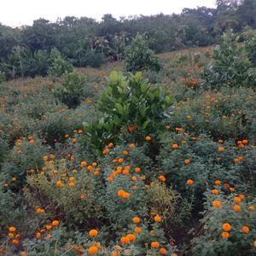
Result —
[{"label": "large yellowing marigold bush with small orange blooms at lower left", "polygon": [[[73,187],[70,177],[73,177]],[[93,172],[84,168],[73,173],[67,160],[46,162],[44,175],[35,172],[27,177],[26,183],[26,199],[31,207],[41,207],[69,226],[80,225],[88,229],[93,227],[92,222],[100,222],[102,207],[97,204],[98,186]]]}]

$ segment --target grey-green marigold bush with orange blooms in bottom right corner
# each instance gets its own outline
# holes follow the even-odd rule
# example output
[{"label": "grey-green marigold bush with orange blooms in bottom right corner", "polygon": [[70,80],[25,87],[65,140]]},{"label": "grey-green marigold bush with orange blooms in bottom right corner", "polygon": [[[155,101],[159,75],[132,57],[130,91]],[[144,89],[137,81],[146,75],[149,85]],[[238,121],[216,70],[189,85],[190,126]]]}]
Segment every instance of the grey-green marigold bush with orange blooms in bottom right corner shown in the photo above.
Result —
[{"label": "grey-green marigold bush with orange blooms in bottom right corner", "polygon": [[[241,195],[229,193],[220,186],[214,187],[212,186],[212,189],[216,189],[218,194],[212,194],[210,189],[205,193],[207,201],[201,220],[202,227],[199,230],[201,235],[193,241],[193,255],[254,255],[256,216],[252,206],[255,200],[240,199]],[[235,202],[239,199],[240,203]],[[213,201],[220,201],[221,206],[213,207]],[[230,224],[230,230],[224,230],[223,224]],[[248,230],[242,230],[244,226]],[[224,238],[223,235],[228,237]]]}]

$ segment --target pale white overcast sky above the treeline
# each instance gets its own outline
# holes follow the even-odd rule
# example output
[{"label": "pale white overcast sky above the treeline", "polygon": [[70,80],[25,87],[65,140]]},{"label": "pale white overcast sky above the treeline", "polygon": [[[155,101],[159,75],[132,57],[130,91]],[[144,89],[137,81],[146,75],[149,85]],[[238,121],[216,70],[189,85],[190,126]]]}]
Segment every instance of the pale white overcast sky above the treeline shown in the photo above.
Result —
[{"label": "pale white overcast sky above the treeline", "polygon": [[0,22],[7,26],[32,25],[44,18],[55,21],[65,16],[86,16],[101,20],[102,15],[179,14],[183,8],[215,7],[215,0],[0,0]]}]

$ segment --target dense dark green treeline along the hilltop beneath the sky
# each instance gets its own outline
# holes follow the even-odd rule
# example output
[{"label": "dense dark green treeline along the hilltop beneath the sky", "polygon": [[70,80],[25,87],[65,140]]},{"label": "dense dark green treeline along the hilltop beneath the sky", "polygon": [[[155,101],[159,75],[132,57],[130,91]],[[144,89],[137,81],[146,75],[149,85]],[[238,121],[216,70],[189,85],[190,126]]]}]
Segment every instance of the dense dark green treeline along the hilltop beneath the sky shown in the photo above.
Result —
[{"label": "dense dark green treeline along the hilltop beneath the sky", "polygon": [[[75,67],[99,67],[103,61],[122,60],[125,47],[137,32],[156,53],[217,44],[228,29],[256,28],[255,0],[217,0],[216,9],[183,9],[180,15],[131,16],[102,21],[67,16],[63,20],[34,20],[32,26],[0,24],[0,72],[20,76],[22,65],[47,65],[50,49],[58,49]],[[170,10],[171,12],[172,10]],[[24,72],[22,72],[22,75]],[[38,73],[35,73],[38,74]],[[44,68],[41,75],[45,75]],[[33,73],[28,73],[33,75]]]}]

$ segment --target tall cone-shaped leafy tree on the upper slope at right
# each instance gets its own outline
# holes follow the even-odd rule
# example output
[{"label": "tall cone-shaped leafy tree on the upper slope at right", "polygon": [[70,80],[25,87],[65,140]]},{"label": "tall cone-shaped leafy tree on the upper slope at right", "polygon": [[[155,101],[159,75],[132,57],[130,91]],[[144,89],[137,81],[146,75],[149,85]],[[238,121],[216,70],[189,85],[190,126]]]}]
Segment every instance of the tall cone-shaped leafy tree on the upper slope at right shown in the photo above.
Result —
[{"label": "tall cone-shaped leafy tree on the upper slope at right", "polygon": [[204,69],[205,85],[210,88],[255,86],[255,78],[249,73],[251,63],[238,44],[239,38],[226,32],[223,39],[213,52],[212,63]]}]

